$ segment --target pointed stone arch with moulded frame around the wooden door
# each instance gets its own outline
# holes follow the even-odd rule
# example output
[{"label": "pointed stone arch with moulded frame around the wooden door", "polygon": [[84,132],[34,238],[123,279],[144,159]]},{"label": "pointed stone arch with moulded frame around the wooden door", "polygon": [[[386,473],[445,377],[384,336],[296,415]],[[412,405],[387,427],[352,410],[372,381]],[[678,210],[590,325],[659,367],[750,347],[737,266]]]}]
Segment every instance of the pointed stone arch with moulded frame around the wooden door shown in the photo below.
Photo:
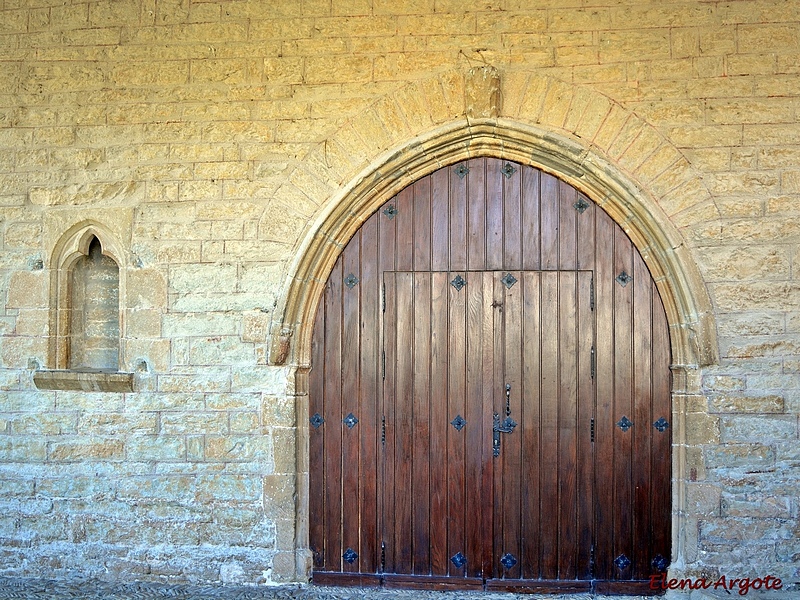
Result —
[{"label": "pointed stone arch with moulded frame around the wooden door", "polygon": [[[594,90],[531,73],[511,74],[502,85],[495,81],[499,84],[499,77],[486,68],[466,78],[448,73],[408,84],[345,123],[278,190],[308,219],[272,323],[271,362],[297,370],[298,415],[307,409],[303,398],[315,310],[344,246],[393,195],[440,167],[476,156],[551,173],[622,226],[650,269],[667,312],[676,415],[685,411],[677,397],[691,387],[689,374],[717,362],[711,300],[681,229],[719,213],[689,161],[643,119]],[[300,418],[296,539],[301,577],[310,569],[303,542],[308,539],[307,428],[307,419]],[[676,423],[674,443],[683,444],[683,435]],[[681,456],[673,461],[676,566],[684,556]]]}]

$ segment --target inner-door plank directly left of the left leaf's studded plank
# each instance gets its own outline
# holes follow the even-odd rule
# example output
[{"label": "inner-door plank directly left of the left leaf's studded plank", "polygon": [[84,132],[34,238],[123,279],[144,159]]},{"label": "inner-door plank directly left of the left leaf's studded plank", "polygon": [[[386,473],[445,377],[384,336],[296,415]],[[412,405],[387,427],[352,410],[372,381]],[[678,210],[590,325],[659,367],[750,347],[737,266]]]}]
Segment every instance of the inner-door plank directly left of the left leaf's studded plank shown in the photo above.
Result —
[{"label": "inner-door plank directly left of the left leaf's studded plank", "polygon": [[[448,452],[448,438],[463,440],[450,421],[448,407],[447,379],[449,361],[455,357],[449,350],[448,298],[450,288],[447,272],[431,274],[431,381],[430,381],[430,420],[431,420],[431,459],[430,459],[430,532],[431,532],[431,573],[446,576],[449,561],[447,554],[447,533],[450,523],[448,514],[448,465],[453,456]],[[463,450],[463,446],[462,446]],[[463,454],[462,454],[463,456]]]}]

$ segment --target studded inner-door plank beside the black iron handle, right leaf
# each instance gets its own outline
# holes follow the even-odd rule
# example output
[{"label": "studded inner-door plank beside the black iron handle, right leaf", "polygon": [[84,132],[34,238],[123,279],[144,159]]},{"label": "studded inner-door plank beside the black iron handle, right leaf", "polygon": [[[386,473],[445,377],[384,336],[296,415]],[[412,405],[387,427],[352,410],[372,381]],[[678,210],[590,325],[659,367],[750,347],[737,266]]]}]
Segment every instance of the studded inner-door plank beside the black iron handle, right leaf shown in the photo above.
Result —
[{"label": "studded inner-door plank beside the black iron handle, right leaf", "polygon": [[[502,434],[502,449],[500,459],[502,460],[503,478],[503,497],[500,504],[502,510],[502,546],[495,549],[495,564],[499,565],[499,559],[506,553],[511,553],[515,559],[510,569],[502,568],[504,578],[519,579],[522,573],[522,513],[524,502],[522,499],[522,481],[520,474],[523,468],[522,447],[526,432],[522,424],[522,405],[526,399],[523,388],[523,288],[524,284],[520,281],[523,275],[517,271],[514,276],[517,282],[507,288],[501,281],[504,272],[496,272],[494,275],[495,289],[500,298],[500,306],[495,308],[502,321],[502,329],[495,332],[495,337],[501,338],[502,348],[501,357],[503,360],[502,378],[497,382],[495,394],[500,398],[500,406],[495,410],[500,412],[501,418],[505,418],[503,406],[503,391],[507,385],[511,386],[508,390],[508,404],[511,408],[511,418],[517,423],[513,433]],[[498,335],[501,333],[502,335]],[[499,361],[498,361],[499,362]]]}]

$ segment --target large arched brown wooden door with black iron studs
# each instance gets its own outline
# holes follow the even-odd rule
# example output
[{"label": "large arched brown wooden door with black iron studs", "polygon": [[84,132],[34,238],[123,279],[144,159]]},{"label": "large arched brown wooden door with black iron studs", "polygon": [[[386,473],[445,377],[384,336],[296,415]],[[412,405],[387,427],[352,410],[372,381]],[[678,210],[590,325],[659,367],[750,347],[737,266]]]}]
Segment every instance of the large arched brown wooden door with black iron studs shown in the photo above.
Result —
[{"label": "large arched brown wooden door with black iron studs", "polygon": [[670,345],[568,184],[442,168],[349,242],[310,374],[314,581],[646,593],[671,530]]}]

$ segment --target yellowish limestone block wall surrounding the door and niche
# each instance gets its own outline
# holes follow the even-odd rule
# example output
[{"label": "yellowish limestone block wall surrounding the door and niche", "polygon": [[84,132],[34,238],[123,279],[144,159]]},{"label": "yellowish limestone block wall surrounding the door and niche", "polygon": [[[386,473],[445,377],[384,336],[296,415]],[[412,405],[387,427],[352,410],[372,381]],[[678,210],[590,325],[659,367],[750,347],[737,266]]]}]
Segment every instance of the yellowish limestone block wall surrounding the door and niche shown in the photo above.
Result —
[{"label": "yellowish limestone block wall surrounding the door and niche", "polygon": [[[707,300],[670,309],[673,571],[800,579],[799,34],[783,0],[0,0],[0,575],[304,580],[308,257],[494,127],[459,152],[624,180],[593,198]],[[95,230],[134,391],[37,389]]]}]

